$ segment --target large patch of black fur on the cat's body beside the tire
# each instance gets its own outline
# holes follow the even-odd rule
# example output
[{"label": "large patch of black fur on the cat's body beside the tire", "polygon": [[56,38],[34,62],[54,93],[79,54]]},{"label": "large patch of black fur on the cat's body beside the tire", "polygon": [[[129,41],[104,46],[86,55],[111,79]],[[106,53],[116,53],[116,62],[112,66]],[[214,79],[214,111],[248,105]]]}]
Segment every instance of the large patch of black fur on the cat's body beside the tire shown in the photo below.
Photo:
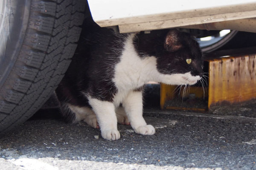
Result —
[{"label": "large patch of black fur on the cat's body beside the tire", "polygon": [[111,79],[128,34],[115,34],[101,28],[90,18],[84,21],[81,38],[72,62],[56,89],[60,101],[84,106],[82,92],[103,101],[113,101],[117,89]]}]

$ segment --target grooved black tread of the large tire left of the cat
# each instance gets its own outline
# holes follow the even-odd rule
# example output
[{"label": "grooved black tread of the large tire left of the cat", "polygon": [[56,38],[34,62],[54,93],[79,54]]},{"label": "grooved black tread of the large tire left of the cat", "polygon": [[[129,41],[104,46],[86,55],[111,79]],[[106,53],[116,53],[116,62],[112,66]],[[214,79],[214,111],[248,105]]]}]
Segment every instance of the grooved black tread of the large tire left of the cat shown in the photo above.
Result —
[{"label": "grooved black tread of the large tire left of the cat", "polygon": [[55,90],[75,52],[84,8],[84,0],[31,0],[20,54],[0,88],[0,134],[29,119]]}]

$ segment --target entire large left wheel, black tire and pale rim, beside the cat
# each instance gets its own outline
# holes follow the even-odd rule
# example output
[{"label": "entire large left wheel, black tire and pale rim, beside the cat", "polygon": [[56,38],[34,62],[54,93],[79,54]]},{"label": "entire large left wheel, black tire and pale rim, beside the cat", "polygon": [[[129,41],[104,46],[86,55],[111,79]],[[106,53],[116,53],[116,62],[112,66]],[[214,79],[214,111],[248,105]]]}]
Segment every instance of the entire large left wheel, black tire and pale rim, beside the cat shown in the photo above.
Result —
[{"label": "entire large left wheel, black tire and pale rim, beside the cat", "polygon": [[0,134],[31,117],[64,76],[86,0],[4,0],[0,20]]}]

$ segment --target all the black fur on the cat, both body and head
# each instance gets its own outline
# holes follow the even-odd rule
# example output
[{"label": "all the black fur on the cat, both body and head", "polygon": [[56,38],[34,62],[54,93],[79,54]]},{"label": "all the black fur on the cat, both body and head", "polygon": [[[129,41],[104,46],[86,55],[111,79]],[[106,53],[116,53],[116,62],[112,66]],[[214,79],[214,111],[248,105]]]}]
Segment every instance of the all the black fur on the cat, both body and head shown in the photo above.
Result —
[{"label": "all the black fur on the cat, both body and head", "polygon": [[[133,39],[135,50],[141,58],[155,56],[157,69],[162,74],[186,73],[203,75],[202,54],[198,43],[183,32],[173,30],[172,44],[166,41],[169,29],[139,33]],[[113,102],[117,88],[112,81],[114,68],[120,61],[124,42],[130,34],[116,34],[108,28],[100,28],[90,18],[84,21],[79,45],[56,94],[61,104],[70,103],[79,107],[89,106],[85,94],[102,101]],[[196,64],[188,65],[191,58]],[[134,89],[140,91],[141,88]],[[73,114],[62,111],[69,122]]]}]

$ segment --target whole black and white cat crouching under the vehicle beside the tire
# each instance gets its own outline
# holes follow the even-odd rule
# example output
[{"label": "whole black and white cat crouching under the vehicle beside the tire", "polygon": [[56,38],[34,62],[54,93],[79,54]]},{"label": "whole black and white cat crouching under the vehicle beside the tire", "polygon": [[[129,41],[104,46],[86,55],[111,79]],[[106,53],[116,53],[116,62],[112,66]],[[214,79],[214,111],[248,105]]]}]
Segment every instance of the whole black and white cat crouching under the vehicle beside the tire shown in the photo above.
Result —
[{"label": "whole black and white cat crouching under the vehicle beside the tire", "polygon": [[198,43],[187,33],[116,34],[91,23],[56,94],[69,122],[100,127],[104,139],[120,138],[117,122],[153,135],[154,127],[143,119],[143,85],[193,85],[204,74],[202,64]]}]

